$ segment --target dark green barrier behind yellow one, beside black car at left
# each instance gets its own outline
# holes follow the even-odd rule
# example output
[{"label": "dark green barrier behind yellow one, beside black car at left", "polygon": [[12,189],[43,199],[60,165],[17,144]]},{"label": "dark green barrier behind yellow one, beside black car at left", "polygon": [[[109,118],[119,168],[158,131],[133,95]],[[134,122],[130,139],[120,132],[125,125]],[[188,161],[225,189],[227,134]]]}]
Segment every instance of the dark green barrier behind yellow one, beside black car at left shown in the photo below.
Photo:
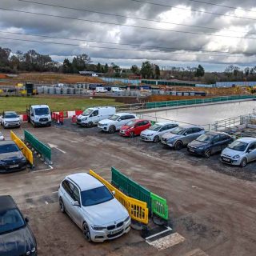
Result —
[{"label": "dark green barrier behind yellow one, beside black car at left", "polygon": [[38,153],[42,154],[47,160],[51,161],[51,149],[46,144],[40,142],[38,138],[34,137],[27,130],[24,130],[25,141],[30,143]]}]

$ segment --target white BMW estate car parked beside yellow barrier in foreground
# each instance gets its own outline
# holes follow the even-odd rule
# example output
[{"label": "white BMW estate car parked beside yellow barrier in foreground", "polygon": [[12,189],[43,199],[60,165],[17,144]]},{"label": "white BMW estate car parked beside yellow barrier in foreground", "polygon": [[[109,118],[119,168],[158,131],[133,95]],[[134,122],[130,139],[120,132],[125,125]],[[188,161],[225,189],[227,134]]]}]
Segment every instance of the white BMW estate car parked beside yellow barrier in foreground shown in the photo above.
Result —
[{"label": "white BMW estate car parked beside yellow barrier in foreground", "polygon": [[129,232],[130,216],[113,194],[85,173],[67,176],[58,189],[61,211],[70,215],[89,242],[103,242]]}]

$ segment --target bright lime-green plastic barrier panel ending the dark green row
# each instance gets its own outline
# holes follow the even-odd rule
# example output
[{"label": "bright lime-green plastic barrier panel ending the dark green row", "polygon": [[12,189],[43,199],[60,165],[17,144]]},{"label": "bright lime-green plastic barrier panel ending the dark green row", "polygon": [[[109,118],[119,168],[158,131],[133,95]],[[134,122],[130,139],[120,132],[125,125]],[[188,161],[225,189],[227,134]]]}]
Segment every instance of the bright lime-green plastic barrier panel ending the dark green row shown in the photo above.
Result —
[{"label": "bright lime-green plastic barrier panel ending the dark green row", "polygon": [[163,219],[168,220],[168,206],[166,199],[159,197],[157,194],[151,193],[151,211]]}]

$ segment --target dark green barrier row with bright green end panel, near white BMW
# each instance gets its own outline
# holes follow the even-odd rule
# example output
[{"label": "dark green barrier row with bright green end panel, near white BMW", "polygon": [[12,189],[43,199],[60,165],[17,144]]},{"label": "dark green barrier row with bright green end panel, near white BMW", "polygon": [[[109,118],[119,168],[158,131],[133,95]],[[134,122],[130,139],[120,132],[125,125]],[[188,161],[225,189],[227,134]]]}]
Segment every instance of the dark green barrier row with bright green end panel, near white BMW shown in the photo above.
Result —
[{"label": "dark green barrier row with bright green end panel, near white BMW", "polygon": [[145,187],[140,186],[126,175],[122,174],[116,168],[111,168],[112,172],[112,184],[119,190],[122,190],[125,194],[146,202],[149,206],[150,212],[157,215],[160,218],[168,220],[168,205],[166,199],[159,197],[158,195],[151,193]]}]

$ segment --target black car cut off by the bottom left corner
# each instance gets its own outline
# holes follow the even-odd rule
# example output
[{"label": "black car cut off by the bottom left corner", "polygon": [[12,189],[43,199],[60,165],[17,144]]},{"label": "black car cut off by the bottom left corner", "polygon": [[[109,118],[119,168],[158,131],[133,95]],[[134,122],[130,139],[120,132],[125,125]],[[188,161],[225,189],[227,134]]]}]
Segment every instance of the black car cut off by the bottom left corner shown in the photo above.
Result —
[{"label": "black car cut off by the bottom left corner", "polygon": [[10,195],[0,196],[0,255],[37,255],[37,242]]}]

